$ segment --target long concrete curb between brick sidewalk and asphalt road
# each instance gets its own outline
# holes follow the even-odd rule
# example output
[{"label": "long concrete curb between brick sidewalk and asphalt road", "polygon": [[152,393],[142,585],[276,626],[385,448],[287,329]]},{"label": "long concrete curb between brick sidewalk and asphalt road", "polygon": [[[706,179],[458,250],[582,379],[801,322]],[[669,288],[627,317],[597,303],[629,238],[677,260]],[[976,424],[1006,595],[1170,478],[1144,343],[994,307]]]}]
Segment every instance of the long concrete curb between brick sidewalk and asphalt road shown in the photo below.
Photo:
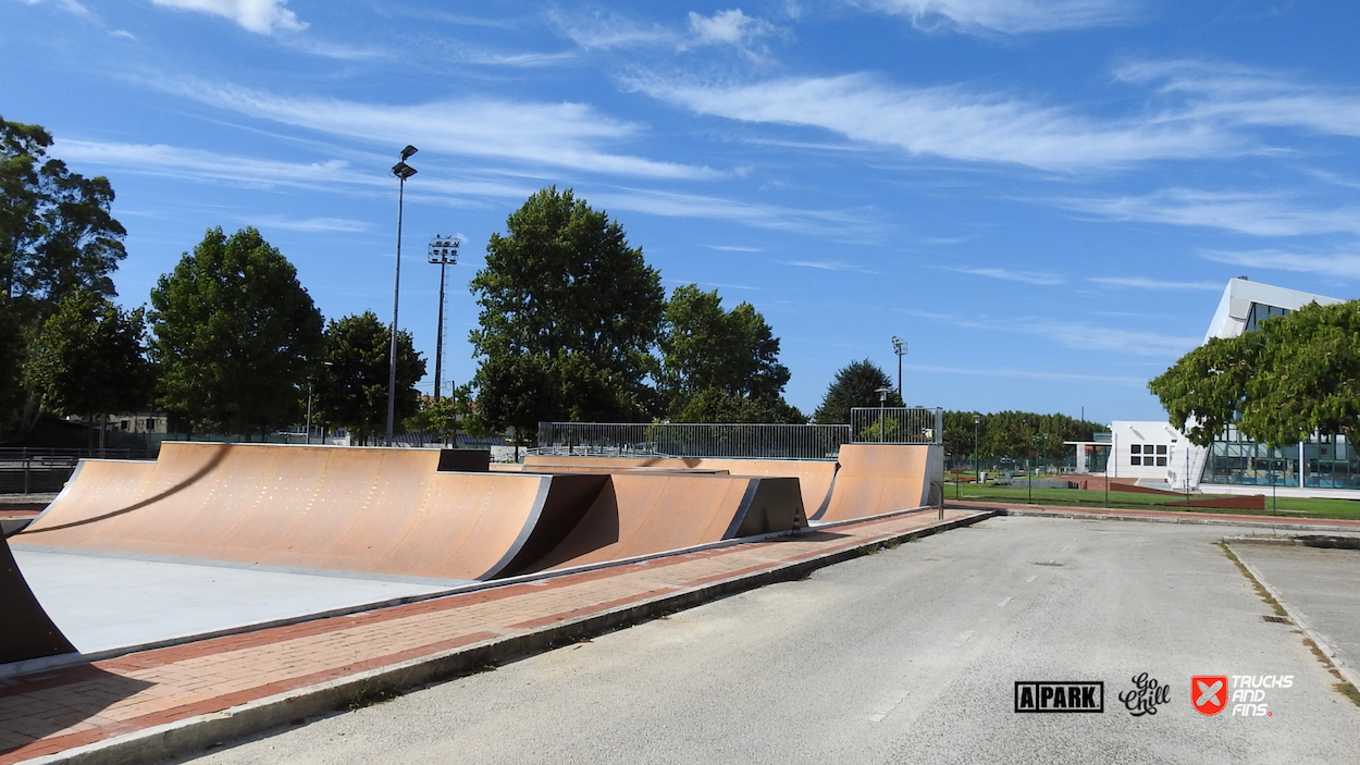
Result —
[{"label": "long concrete curb between brick sidewalk and asphalt road", "polygon": [[847,550],[826,553],[794,564],[777,565],[763,572],[733,576],[694,589],[673,592],[598,614],[567,619],[540,630],[484,640],[431,656],[359,672],[348,678],[258,698],[222,712],[188,717],[133,734],[72,747],[67,751],[24,760],[23,762],[27,765],[53,765],[58,762],[63,765],[114,765],[132,761],[148,762],[189,754],[214,743],[260,734],[292,721],[363,704],[374,697],[381,698],[390,693],[453,679],[477,671],[481,667],[541,653],[558,645],[578,642],[617,628],[627,628],[666,613],[692,608],[728,595],[747,592],[768,584],[794,581],[817,569],[877,551],[885,543],[930,536],[972,525],[998,515],[1001,515],[998,510],[978,510],[975,516],[941,521],[936,525],[902,534],[888,534]]}]

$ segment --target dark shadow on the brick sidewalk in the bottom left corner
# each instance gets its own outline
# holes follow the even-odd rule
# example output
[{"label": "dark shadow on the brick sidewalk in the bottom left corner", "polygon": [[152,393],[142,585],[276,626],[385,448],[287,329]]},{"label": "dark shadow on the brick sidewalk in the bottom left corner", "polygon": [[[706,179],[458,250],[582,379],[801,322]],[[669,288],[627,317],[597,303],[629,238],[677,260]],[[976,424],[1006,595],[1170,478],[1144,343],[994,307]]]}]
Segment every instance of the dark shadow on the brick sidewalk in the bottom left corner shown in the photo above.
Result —
[{"label": "dark shadow on the brick sidewalk in the bottom left corner", "polygon": [[[0,757],[88,720],[152,685],[91,664],[0,679],[0,715],[7,720],[7,740],[0,743]],[[69,696],[63,687],[71,689]],[[38,696],[42,715],[27,709],[38,704]],[[22,740],[12,743],[14,739]]]}]

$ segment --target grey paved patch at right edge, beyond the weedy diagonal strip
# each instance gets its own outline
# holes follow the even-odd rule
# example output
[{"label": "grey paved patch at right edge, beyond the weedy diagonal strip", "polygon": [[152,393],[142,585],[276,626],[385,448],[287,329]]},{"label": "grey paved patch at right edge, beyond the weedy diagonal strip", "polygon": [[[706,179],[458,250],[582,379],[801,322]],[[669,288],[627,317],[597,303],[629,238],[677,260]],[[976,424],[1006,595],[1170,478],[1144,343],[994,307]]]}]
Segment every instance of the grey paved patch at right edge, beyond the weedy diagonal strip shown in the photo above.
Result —
[{"label": "grey paved patch at right edge, beyond the weedy diagonal strip", "polygon": [[1352,675],[1360,672],[1360,550],[1250,543],[1232,550],[1280,595],[1291,615],[1337,652]]}]

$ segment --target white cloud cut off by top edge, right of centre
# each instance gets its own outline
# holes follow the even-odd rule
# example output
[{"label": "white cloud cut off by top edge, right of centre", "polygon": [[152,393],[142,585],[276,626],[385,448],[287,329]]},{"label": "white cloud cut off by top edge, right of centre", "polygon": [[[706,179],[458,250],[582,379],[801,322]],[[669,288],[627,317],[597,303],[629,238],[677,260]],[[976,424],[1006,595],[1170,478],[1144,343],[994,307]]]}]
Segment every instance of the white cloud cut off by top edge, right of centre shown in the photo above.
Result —
[{"label": "white cloud cut off by top edge, right of centre", "polygon": [[1125,23],[1136,18],[1134,0],[847,0],[907,16],[918,27],[1021,34]]}]

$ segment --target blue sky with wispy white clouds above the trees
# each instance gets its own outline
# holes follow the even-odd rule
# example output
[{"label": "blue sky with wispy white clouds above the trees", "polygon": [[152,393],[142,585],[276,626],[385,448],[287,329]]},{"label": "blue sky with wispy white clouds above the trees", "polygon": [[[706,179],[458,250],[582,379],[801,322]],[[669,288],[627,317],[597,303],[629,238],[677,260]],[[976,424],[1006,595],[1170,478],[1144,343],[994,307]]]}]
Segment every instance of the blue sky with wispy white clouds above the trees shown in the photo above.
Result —
[{"label": "blue sky with wispy white clouds above the trees", "polygon": [[1227,280],[1356,297],[1352,3],[0,0],[0,114],[105,174],[147,302],[205,229],[258,227],[328,317],[392,310],[476,369],[468,279],[536,189],[752,302],[811,411],[872,358],[908,403],[1161,418],[1146,380]]}]

